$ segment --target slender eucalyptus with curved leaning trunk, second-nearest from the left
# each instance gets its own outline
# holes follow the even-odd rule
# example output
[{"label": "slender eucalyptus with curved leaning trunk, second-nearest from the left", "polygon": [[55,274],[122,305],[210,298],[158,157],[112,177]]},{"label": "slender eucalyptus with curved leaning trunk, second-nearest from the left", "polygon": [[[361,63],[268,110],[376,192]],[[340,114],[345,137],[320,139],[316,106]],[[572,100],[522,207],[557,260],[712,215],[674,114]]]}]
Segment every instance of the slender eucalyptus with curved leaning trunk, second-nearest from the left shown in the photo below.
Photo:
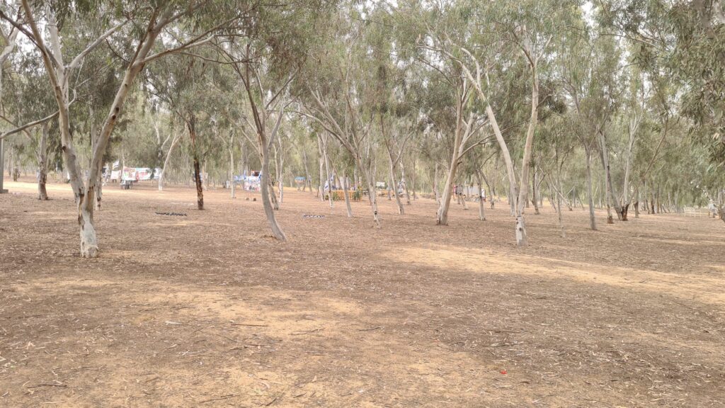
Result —
[{"label": "slender eucalyptus with curved leaning trunk, second-nearest from the left", "polygon": [[[226,67],[233,70],[244,90],[244,106],[237,111],[236,123],[254,130],[257,152],[262,164],[261,194],[265,216],[274,237],[286,240],[279,226],[272,201],[270,155],[286,110],[291,104],[290,83],[299,74],[307,50],[315,43],[315,22],[331,11],[331,4],[299,1],[297,4],[270,6],[260,4],[255,12],[268,24],[264,28],[242,30],[218,46],[225,55]],[[244,129],[244,125],[238,126]],[[248,139],[252,139],[247,135]],[[270,190],[271,189],[271,190]]]}]

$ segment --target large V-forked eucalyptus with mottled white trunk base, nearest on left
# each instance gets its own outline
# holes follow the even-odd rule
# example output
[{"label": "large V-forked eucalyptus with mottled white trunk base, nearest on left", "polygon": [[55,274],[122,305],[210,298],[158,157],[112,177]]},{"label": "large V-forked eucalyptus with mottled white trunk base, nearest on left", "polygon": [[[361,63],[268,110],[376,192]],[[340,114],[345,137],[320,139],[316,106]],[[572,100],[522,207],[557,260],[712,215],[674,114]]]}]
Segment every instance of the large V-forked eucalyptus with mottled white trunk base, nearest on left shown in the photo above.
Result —
[{"label": "large V-forked eucalyptus with mottled white trunk base, nearest on left", "polygon": [[[7,20],[28,38],[40,52],[48,81],[54,90],[59,110],[59,127],[62,151],[70,182],[78,205],[80,229],[80,254],[86,258],[99,255],[98,238],[94,226],[93,211],[102,160],[109,139],[120,118],[123,106],[133,82],[149,62],[175,52],[207,44],[221,28],[229,28],[248,10],[242,1],[103,1],[30,4],[21,0],[17,9],[0,10],[0,18]],[[225,18],[220,20],[220,16]],[[13,17],[17,16],[17,17]],[[158,41],[162,31],[173,31]],[[77,33],[78,35],[69,35]],[[70,80],[78,72],[88,54],[97,52],[104,44],[124,44],[114,53],[120,53],[113,61],[123,65],[123,79],[115,89],[115,97],[107,117],[100,126],[99,135],[91,158],[91,168],[85,178],[72,139],[74,118],[70,115]],[[107,41],[108,40],[108,41]],[[68,41],[87,44],[78,54],[69,56],[65,50]],[[69,61],[69,62],[66,62]]]}]

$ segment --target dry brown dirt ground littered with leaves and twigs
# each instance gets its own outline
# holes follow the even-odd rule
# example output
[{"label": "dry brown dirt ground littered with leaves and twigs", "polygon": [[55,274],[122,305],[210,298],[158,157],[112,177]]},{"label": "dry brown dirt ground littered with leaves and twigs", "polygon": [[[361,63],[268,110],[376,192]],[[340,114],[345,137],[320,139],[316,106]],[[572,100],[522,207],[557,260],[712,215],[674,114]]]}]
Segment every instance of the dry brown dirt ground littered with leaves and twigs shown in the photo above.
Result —
[{"label": "dry brown dirt ground littered with leaves and twigs", "polygon": [[84,260],[67,184],[7,187],[1,407],[725,404],[720,220],[593,232],[579,208],[563,239],[547,206],[519,249],[504,204],[436,227],[431,200],[384,199],[373,229],[287,189],[276,242],[247,194],[112,184]]}]

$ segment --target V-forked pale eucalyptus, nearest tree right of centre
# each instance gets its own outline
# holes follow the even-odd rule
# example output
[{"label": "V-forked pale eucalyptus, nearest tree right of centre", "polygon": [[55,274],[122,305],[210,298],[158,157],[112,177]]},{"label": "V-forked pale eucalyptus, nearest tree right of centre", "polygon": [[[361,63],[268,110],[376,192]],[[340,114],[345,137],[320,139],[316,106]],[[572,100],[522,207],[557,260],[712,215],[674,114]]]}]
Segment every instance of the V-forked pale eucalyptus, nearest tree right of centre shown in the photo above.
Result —
[{"label": "V-forked pale eucalyptus, nearest tree right of centre", "polygon": [[[457,62],[465,78],[470,81],[485,108],[489,124],[504,158],[512,210],[516,218],[515,236],[519,246],[528,245],[523,210],[529,185],[531,149],[537,128],[539,110],[539,81],[542,71],[552,60],[550,43],[574,17],[578,1],[517,1],[506,4],[490,4],[479,1],[463,1],[449,11],[458,20],[446,30],[431,36],[428,46]],[[457,30],[454,32],[453,28]],[[458,33],[454,35],[454,33]],[[486,44],[486,46],[481,46]],[[521,60],[515,56],[518,54]],[[492,107],[497,83],[502,83],[511,68],[523,62],[531,80],[531,115],[523,142],[521,176],[514,174],[510,147]],[[499,74],[499,75],[494,75]],[[502,75],[503,74],[503,75]],[[516,78],[514,81],[520,81]]]}]

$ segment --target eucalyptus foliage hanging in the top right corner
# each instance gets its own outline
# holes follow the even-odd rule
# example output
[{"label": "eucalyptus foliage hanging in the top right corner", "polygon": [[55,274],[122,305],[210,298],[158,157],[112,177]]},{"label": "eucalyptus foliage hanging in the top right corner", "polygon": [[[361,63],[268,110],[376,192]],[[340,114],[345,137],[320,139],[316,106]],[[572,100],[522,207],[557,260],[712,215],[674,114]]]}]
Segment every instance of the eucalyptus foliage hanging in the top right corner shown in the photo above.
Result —
[{"label": "eucalyptus foliage hanging in the top right corner", "polygon": [[597,17],[631,44],[636,61],[680,88],[692,140],[725,165],[725,1],[606,0]]}]

